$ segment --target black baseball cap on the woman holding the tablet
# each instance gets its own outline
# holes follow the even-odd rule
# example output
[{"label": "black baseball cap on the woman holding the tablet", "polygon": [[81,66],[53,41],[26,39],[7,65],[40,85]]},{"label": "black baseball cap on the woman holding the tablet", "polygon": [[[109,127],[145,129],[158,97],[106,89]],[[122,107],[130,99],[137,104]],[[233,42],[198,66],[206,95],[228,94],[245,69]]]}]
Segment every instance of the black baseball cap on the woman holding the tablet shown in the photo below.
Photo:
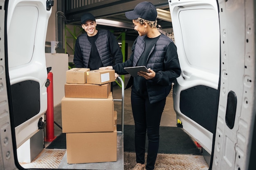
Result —
[{"label": "black baseball cap on the woman holding the tablet", "polygon": [[128,11],[125,16],[129,20],[142,18],[148,21],[155,21],[157,19],[157,9],[151,2],[141,2],[136,5],[133,11]]}]

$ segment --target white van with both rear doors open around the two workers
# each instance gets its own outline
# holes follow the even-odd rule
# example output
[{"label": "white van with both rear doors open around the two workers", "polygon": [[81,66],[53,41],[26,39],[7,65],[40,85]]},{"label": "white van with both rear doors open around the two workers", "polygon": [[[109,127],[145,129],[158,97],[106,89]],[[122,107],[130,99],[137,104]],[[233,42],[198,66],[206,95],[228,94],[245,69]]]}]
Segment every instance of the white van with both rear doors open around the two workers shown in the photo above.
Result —
[{"label": "white van with both rear doors open around the two workers", "polygon": [[[173,89],[178,126],[209,155],[209,169],[255,170],[256,2],[168,3],[182,68]],[[16,148],[43,126],[51,5],[0,0],[1,170],[20,168]]]}]

